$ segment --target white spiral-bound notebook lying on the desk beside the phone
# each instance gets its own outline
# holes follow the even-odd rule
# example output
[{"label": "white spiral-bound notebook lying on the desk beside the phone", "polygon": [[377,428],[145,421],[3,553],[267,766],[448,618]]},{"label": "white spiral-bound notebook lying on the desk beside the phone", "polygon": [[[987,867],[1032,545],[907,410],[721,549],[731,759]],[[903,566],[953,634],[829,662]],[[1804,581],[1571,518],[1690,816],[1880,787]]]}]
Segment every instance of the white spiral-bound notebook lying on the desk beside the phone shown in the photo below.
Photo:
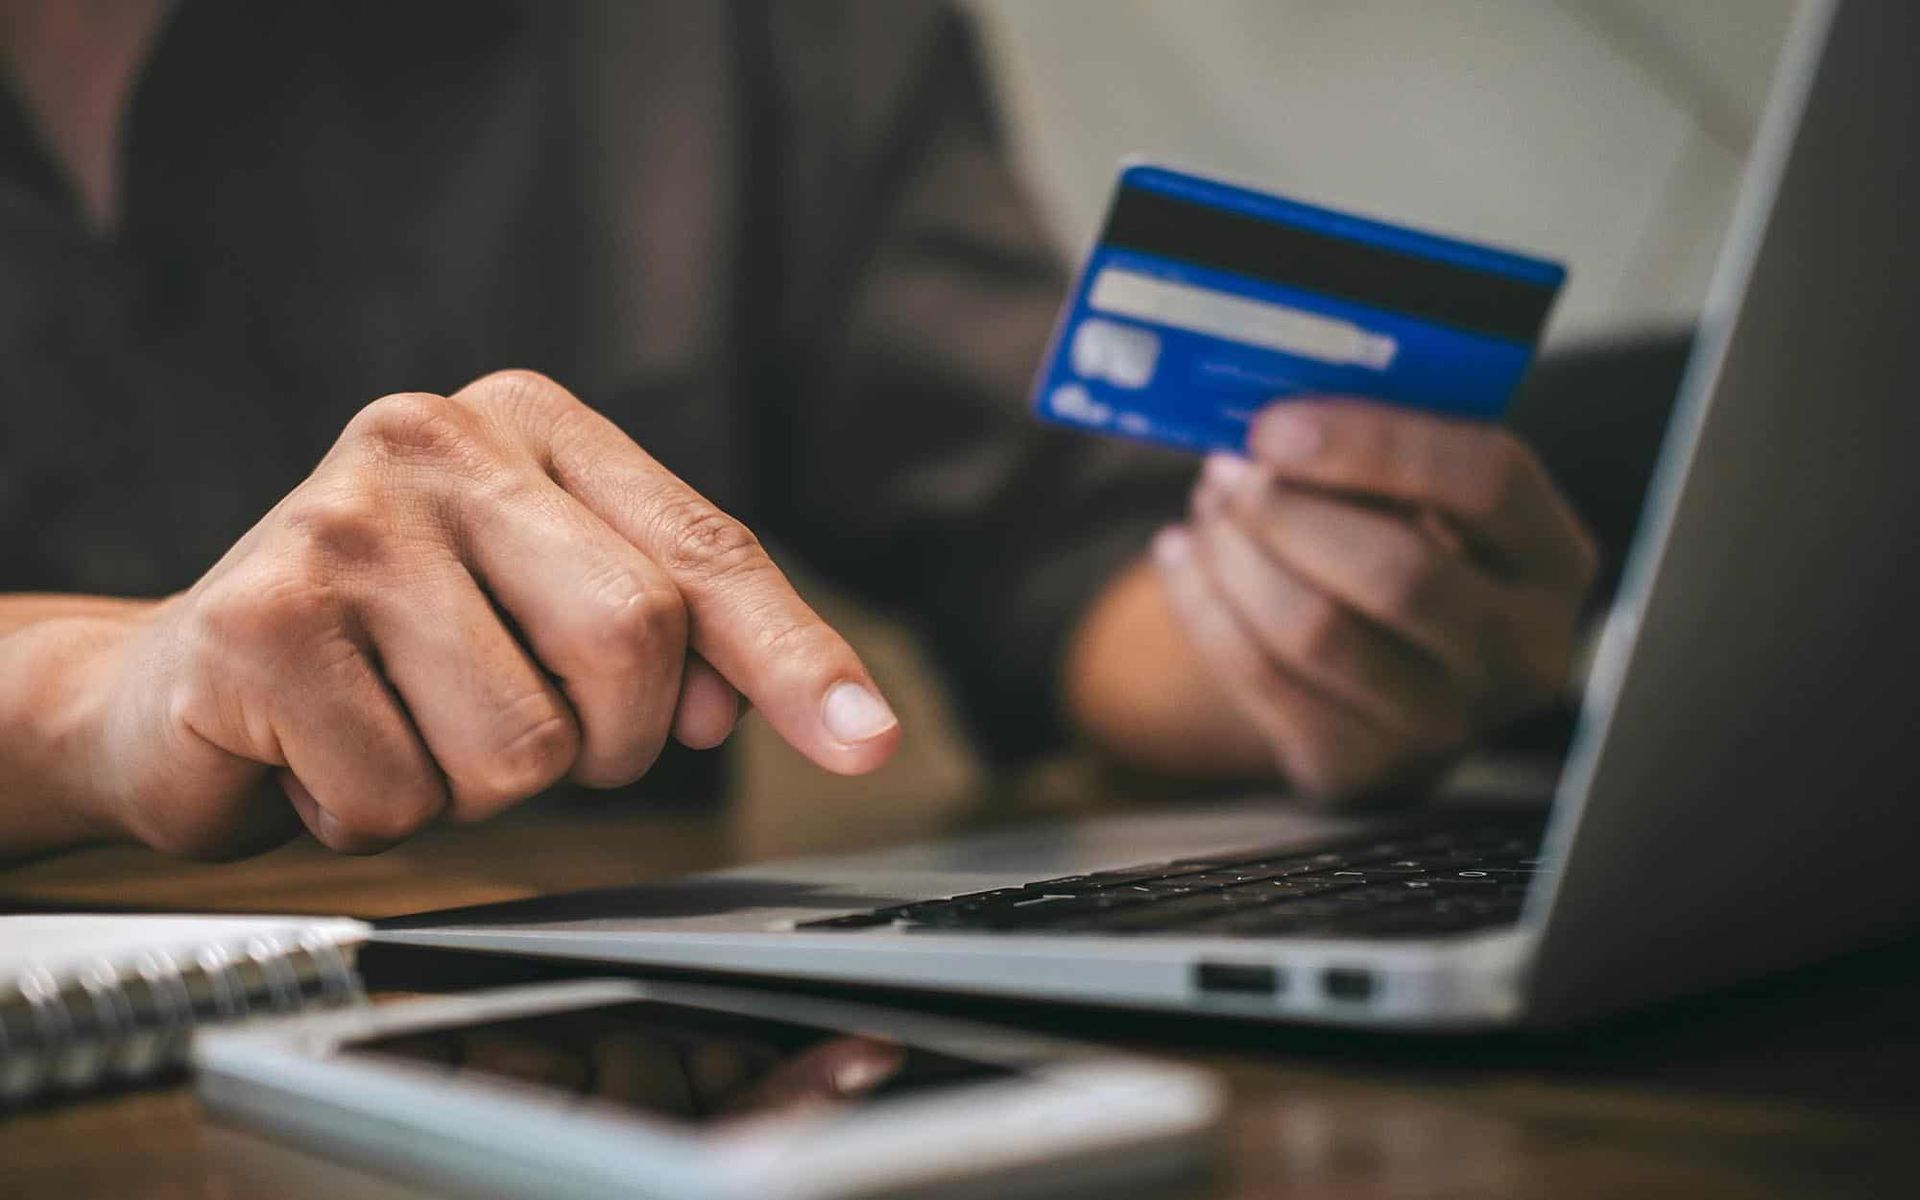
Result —
[{"label": "white spiral-bound notebook lying on the desk beside the phone", "polygon": [[367,935],[296,916],[0,916],[0,1106],[165,1073],[196,1025],[361,1002]]}]

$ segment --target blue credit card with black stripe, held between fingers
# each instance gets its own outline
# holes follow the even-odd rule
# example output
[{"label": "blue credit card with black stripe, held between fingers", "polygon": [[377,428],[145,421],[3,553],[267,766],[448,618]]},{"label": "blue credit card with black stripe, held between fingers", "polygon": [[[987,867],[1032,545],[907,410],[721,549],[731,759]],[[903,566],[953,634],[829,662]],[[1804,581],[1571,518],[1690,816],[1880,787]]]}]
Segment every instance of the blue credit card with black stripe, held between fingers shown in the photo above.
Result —
[{"label": "blue credit card with black stripe, held between fingers", "polygon": [[1498,420],[1567,269],[1185,171],[1119,175],[1035,380],[1041,417],[1244,449],[1290,396]]}]

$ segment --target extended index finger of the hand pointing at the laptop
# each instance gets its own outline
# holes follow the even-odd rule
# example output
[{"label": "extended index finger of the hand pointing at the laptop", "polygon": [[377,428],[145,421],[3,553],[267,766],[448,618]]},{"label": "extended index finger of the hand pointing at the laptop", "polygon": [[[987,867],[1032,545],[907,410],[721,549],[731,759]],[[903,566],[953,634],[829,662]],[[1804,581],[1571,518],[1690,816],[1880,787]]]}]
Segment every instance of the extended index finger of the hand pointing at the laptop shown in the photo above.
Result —
[{"label": "extended index finger of the hand pointing at the laptop", "polygon": [[874,678],[745,524],[541,374],[490,374],[455,399],[509,426],[561,488],[668,574],[693,651],[797,751],[839,774],[887,760],[900,730]]}]

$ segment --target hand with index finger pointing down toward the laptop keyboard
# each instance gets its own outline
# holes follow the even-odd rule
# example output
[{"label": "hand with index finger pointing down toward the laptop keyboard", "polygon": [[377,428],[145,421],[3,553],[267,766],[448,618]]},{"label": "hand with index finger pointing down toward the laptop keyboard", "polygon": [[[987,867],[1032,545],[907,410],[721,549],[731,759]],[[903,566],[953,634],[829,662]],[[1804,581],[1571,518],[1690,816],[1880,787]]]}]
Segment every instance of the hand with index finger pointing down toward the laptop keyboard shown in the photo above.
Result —
[{"label": "hand with index finger pointing down toward the laptop keyboard", "polygon": [[92,674],[100,816],[198,856],[292,831],[288,803],[363,852],[630,783],[668,735],[726,739],[739,695],[833,772],[899,743],[743,524],[524,371],[371,403]]}]

